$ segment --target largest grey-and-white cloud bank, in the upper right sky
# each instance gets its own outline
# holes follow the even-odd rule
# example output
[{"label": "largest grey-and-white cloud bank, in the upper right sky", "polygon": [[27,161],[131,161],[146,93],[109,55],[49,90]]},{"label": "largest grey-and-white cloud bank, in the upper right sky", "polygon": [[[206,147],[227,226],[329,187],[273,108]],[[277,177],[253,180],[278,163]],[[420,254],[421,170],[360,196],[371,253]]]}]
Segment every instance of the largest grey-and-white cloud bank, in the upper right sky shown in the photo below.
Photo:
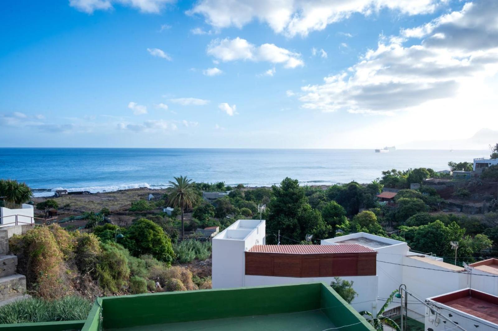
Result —
[{"label": "largest grey-and-white cloud bank, in the upper right sky", "polygon": [[403,38],[381,36],[377,48],[348,70],[303,86],[303,107],[392,115],[434,100],[475,99],[473,88],[463,86],[482,85],[498,71],[497,17],[498,2],[483,0],[401,31],[426,37],[420,44],[403,46]]}]

